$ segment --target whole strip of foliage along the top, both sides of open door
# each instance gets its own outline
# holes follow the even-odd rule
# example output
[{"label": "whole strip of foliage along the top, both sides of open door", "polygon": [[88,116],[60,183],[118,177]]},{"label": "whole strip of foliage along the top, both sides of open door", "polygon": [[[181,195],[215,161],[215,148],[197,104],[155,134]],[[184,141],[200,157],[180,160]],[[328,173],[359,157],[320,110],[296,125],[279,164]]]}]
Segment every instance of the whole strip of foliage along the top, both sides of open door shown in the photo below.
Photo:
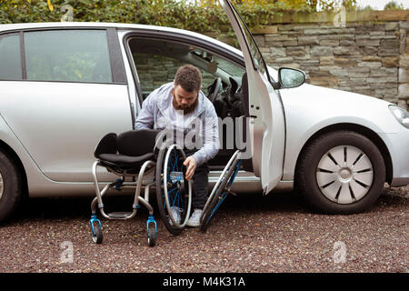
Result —
[{"label": "whole strip of foliage along the top, both sides of open door", "polygon": [[[233,0],[251,27],[284,11],[333,10],[356,0]],[[348,6],[347,6],[348,7]],[[74,21],[166,25],[223,35],[230,25],[217,0],[0,0],[0,24]]]}]

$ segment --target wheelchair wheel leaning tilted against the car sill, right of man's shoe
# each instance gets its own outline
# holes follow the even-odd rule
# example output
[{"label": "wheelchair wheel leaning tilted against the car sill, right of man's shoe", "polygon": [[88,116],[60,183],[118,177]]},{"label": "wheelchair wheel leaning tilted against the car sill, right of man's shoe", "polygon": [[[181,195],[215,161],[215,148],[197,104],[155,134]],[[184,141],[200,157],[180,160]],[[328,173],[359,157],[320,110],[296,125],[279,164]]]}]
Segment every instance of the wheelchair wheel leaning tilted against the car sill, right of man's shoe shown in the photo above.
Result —
[{"label": "wheelchair wheel leaning tilted against the car sill, right of man's shoe", "polygon": [[222,175],[206,202],[202,216],[200,217],[201,229],[204,232],[206,231],[207,226],[209,226],[210,220],[214,217],[214,213],[219,209],[230,193],[230,188],[234,183],[234,178],[241,165],[241,160],[237,158],[237,155],[238,152],[232,156],[229,163],[224,168]]}]

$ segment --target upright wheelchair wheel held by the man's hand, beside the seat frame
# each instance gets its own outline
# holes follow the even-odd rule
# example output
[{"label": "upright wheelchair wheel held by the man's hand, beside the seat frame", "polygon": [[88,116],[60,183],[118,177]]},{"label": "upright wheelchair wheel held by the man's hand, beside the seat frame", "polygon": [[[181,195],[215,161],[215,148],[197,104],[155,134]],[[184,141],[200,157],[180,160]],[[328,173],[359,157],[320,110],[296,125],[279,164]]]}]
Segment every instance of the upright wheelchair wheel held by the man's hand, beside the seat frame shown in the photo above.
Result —
[{"label": "upright wheelchair wheel held by the man's hand, beside the seat frame", "polygon": [[192,186],[185,180],[184,151],[176,146],[159,151],[156,162],[156,199],[162,221],[169,232],[179,235],[192,205]]}]

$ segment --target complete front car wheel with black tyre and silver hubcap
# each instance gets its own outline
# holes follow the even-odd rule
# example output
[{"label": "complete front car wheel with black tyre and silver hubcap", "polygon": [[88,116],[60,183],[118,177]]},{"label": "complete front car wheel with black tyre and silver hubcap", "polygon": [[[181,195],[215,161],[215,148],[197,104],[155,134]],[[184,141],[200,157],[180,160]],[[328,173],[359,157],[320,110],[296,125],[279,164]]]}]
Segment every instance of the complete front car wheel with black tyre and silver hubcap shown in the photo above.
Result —
[{"label": "complete front car wheel with black tyre and silver hubcap", "polygon": [[384,158],[374,143],[352,131],[336,131],[306,146],[296,172],[297,188],[327,214],[363,212],[381,195]]}]

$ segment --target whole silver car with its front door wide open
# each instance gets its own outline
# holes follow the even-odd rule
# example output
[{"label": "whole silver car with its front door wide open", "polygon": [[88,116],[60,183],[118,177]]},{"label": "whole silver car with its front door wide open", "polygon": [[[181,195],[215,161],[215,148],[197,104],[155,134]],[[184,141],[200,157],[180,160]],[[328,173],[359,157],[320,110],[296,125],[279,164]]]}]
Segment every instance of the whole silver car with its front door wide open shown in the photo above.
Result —
[{"label": "whole silver car with its front door wide open", "polygon": [[[228,0],[241,51],[193,32],[150,25],[0,25],[0,220],[20,198],[93,195],[94,149],[132,130],[144,98],[186,63],[199,67],[221,118],[214,184],[246,151],[234,191],[299,189],[325,213],[361,212],[384,182],[409,184],[409,115],[374,97],[304,84],[304,73],[265,64]],[[112,174],[99,173],[111,182]]]}]

